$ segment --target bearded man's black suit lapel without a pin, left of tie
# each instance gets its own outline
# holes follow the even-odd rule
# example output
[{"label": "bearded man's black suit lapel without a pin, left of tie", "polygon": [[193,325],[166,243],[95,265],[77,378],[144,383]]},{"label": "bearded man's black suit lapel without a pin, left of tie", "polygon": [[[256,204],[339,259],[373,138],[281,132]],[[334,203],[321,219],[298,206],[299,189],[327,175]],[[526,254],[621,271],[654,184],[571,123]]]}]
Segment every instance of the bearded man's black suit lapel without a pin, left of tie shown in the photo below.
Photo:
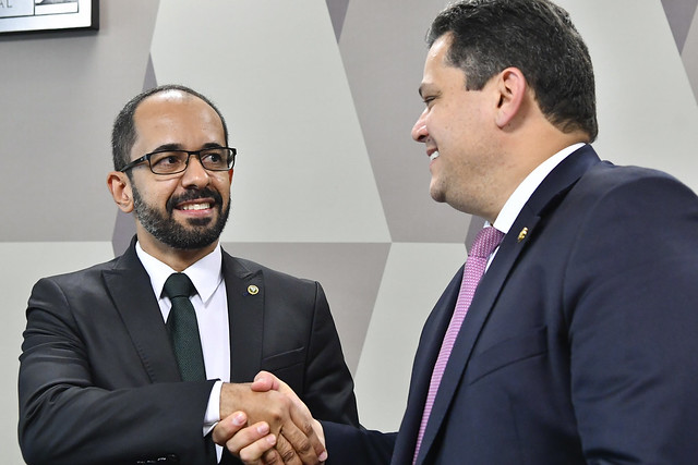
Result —
[{"label": "bearded man's black suit lapel without a pin, left of tie", "polygon": [[111,270],[103,272],[107,292],[131,336],[152,382],[180,381],[177,359],[151,278],[135,253],[135,240]]}]

